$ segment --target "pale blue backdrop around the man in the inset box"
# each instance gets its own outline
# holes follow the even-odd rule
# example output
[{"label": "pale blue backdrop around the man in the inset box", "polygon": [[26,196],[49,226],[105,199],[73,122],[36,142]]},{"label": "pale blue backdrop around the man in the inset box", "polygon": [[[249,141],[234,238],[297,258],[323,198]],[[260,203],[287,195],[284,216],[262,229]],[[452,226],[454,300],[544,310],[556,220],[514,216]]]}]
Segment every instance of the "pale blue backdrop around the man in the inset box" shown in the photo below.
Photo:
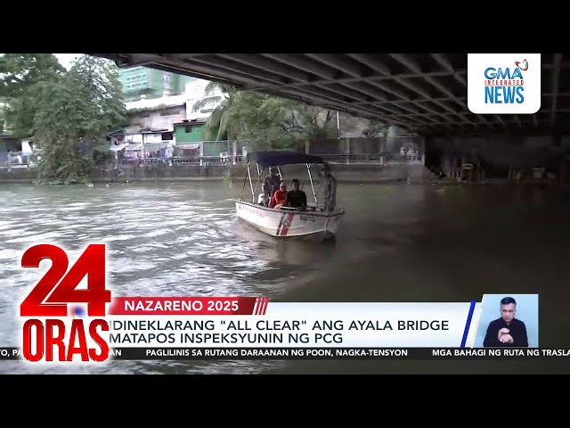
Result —
[{"label": "pale blue backdrop around the man in the inset box", "polygon": [[517,300],[517,315],[515,317],[526,325],[528,347],[538,348],[538,294],[485,294],[483,296],[483,312],[475,338],[475,348],[483,348],[489,323],[501,317],[501,299],[504,297],[512,297]]}]

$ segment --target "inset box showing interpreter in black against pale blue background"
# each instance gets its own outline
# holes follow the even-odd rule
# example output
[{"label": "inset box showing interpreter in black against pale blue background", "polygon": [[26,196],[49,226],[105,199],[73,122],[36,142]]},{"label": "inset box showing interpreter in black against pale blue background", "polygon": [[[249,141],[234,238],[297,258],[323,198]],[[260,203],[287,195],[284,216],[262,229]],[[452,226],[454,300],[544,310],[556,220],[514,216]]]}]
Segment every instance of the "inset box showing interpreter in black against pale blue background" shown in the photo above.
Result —
[{"label": "inset box showing interpreter in black against pale blue background", "polygon": [[538,294],[484,294],[474,348],[538,348]]}]

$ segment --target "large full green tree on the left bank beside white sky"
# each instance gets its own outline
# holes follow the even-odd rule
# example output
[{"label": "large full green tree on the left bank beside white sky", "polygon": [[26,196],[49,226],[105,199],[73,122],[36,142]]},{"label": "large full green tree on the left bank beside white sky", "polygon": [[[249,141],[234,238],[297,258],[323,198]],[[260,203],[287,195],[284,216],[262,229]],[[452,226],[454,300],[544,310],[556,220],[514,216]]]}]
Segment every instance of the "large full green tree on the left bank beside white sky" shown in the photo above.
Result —
[{"label": "large full green tree on the left bank beside white sky", "polygon": [[108,151],[107,134],[128,123],[117,70],[106,60],[82,56],[37,94],[34,141],[41,149],[40,180],[89,181],[94,151]]}]

